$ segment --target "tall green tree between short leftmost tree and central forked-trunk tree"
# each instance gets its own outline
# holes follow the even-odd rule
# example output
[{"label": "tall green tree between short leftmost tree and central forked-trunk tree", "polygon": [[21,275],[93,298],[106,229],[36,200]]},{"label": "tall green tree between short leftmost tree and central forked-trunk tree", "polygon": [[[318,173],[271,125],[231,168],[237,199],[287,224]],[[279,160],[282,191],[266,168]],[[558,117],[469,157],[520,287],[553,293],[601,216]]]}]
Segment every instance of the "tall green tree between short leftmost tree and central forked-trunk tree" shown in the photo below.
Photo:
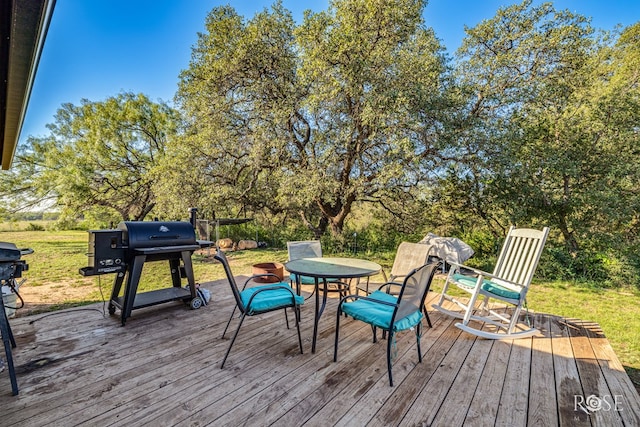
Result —
[{"label": "tall green tree between short leftmost tree and central forked-trunk tree", "polygon": [[229,6],[207,16],[176,95],[186,134],[170,144],[158,170],[163,211],[197,206],[208,217],[282,211],[283,141],[299,97],[293,26],[280,5],[249,22]]}]

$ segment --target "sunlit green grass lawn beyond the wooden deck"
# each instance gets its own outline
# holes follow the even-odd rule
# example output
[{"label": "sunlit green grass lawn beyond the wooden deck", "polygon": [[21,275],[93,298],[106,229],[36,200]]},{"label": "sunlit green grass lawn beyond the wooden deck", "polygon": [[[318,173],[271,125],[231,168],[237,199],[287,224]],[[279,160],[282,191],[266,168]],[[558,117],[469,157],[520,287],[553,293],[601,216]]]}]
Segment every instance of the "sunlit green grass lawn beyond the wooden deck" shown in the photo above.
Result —
[{"label": "sunlit green grass lawn beyond the wooden deck", "polygon": [[[6,230],[6,228],[4,228]],[[14,226],[13,230],[19,229]],[[3,230],[3,228],[0,228]],[[89,304],[108,299],[113,275],[83,277],[78,269],[87,265],[86,231],[0,231],[0,241],[31,247],[35,252],[24,259],[29,270],[25,286],[74,287],[74,298],[55,300],[50,309]],[[196,281],[224,277],[222,267],[212,257],[193,258]],[[390,271],[394,253],[360,255],[379,262]],[[284,262],[286,250],[260,249],[228,254],[235,275],[250,275],[251,266],[266,261]],[[375,278],[374,278],[375,279]],[[145,264],[141,291],[168,286],[171,276],[166,262]],[[439,291],[436,284],[434,291]],[[529,307],[537,312],[593,321],[602,327],[613,349],[636,387],[640,387],[640,291],[635,288],[600,289],[577,283],[534,283],[528,294]]]}]

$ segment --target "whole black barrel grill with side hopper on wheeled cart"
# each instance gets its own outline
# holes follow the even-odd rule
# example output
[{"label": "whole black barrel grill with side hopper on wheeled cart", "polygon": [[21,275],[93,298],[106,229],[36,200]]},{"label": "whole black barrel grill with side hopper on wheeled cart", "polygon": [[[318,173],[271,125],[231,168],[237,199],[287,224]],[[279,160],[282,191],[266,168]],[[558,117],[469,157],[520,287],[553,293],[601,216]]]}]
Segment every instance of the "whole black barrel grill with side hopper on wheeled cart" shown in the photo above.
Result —
[{"label": "whole black barrel grill with side hopper on wheeled cart", "polygon": [[[89,266],[80,269],[85,276],[117,273],[109,301],[109,313],[120,309],[124,326],[131,311],[169,301],[183,300],[199,308],[191,255],[211,242],[196,240],[195,230],[183,221],[124,221],[117,229],[89,231]],[[172,286],[138,293],[145,262],[168,261]],[[186,278],[188,287],[182,286]],[[124,295],[120,295],[122,285]]]}]

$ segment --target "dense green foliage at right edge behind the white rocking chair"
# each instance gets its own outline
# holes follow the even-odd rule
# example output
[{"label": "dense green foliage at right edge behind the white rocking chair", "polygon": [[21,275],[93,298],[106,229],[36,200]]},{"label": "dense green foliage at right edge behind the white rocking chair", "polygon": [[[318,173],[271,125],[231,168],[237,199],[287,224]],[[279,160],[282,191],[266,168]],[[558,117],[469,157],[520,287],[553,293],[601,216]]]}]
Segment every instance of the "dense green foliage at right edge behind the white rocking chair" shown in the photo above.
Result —
[{"label": "dense green foliage at right edge behind the white rocking chair", "polygon": [[612,46],[586,18],[524,1],[467,33],[457,75],[474,95],[464,122],[474,138],[459,142],[445,200],[496,236],[509,223],[550,225],[570,271],[613,277],[604,260],[637,224],[634,28]]}]

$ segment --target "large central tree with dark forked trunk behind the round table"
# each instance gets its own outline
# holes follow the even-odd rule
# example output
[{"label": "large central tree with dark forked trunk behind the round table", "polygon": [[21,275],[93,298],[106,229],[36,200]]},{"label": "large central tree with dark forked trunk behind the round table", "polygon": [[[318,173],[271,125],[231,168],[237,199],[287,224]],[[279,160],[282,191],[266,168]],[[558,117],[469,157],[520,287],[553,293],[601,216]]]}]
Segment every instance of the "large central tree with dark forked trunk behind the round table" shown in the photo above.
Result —
[{"label": "large central tree with dark forked trunk behind the round table", "polygon": [[335,1],[297,29],[311,134],[291,147],[290,188],[304,188],[298,199],[312,200],[335,233],[358,201],[402,215],[436,168],[446,67],[424,7]]}]

